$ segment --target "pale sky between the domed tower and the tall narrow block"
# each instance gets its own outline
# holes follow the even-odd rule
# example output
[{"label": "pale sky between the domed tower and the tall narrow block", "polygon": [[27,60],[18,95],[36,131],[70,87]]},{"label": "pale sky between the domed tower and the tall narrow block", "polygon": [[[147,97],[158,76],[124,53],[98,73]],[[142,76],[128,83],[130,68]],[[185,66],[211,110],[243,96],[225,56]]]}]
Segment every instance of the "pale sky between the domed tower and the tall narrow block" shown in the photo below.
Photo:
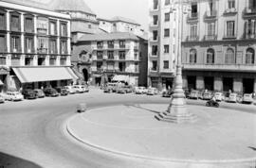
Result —
[{"label": "pale sky between the domed tower and the tall narrow block", "polygon": [[98,17],[122,16],[137,21],[148,29],[148,0],[84,0]]}]

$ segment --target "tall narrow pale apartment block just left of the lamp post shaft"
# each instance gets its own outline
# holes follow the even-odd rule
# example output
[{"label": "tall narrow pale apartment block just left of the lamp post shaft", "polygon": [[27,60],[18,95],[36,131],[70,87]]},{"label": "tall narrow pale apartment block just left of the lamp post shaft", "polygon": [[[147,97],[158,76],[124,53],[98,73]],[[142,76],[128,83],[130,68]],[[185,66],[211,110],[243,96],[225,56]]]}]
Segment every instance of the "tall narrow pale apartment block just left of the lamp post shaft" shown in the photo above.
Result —
[{"label": "tall narrow pale apartment block just left of the lamp post shaft", "polygon": [[171,0],[150,0],[149,85],[173,87],[178,47],[178,10]]}]

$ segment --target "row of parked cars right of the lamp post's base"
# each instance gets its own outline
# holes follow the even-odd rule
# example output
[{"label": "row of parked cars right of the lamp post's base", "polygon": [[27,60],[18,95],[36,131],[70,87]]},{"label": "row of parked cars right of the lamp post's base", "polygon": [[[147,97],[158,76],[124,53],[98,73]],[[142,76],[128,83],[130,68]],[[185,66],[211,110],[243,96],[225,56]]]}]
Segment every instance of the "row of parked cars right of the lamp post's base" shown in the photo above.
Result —
[{"label": "row of parked cars right of the lamp post's base", "polygon": [[252,93],[236,93],[236,92],[201,92],[192,90],[189,94],[187,94],[188,98],[191,99],[202,99],[202,100],[210,100],[212,97],[215,97],[216,101],[226,101],[231,103],[253,103],[254,99],[252,97]]}]

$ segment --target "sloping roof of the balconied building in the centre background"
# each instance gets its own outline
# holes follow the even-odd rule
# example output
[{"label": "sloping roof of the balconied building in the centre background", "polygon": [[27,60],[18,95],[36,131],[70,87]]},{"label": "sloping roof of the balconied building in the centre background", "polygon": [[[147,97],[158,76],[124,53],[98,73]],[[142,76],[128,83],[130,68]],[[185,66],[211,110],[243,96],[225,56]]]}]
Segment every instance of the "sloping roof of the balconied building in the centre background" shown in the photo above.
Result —
[{"label": "sloping roof of the balconied building in the centre background", "polygon": [[136,35],[127,32],[117,32],[117,33],[100,33],[95,35],[83,35],[79,42],[86,41],[112,41],[112,40],[135,40],[138,38]]}]

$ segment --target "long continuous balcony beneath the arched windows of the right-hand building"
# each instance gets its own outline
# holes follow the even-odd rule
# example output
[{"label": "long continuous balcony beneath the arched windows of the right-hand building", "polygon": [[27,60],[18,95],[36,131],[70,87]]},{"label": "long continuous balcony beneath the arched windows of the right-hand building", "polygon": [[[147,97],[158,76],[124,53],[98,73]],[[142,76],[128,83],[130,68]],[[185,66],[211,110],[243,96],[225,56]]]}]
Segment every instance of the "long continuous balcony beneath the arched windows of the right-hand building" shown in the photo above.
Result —
[{"label": "long continuous balcony beneath the arched windows of the right-hand building", "polygon": [[185,70],[201,71],[229,71],[229,72],[256,72],[256,64],[190,64],[184,63]]}]

